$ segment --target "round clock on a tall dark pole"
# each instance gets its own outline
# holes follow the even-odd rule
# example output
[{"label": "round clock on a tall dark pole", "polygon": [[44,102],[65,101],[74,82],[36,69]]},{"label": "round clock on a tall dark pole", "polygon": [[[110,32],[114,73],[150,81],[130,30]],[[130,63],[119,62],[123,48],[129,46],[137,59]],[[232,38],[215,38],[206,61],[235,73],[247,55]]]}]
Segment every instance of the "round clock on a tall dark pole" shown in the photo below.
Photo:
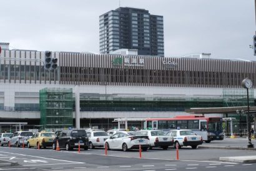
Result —
[{"label": "round clock on a tall dark pole", "polygon": [[248,109],[248,112],[247,112],[247,135],[248,135],[248,140],[249,140],[249,144],[247,145],[248,148],[253,148],[254,147],[254,144],[252,144],[252,140],[250,138],[250,104],[249,104],[249,89],[252,88],[252,81],[248,78],[245,78],[243,81],[242,81],[242,86],[247,89],[247,109]]}]

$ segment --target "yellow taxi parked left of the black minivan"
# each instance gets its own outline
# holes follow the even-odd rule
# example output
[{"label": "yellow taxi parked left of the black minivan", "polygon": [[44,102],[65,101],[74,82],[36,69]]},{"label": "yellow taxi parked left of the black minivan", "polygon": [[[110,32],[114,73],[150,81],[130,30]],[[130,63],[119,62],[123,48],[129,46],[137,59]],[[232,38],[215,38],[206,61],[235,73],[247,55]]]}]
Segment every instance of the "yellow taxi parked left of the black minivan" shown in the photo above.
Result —
[{"label": "yellow taxi parked left of the black minivan", "polygon": [[37,147],[52,147],[52,142],[55,139],[56,134],[54,132],[37,132],[30,139],[27,140],[27,148]]}]

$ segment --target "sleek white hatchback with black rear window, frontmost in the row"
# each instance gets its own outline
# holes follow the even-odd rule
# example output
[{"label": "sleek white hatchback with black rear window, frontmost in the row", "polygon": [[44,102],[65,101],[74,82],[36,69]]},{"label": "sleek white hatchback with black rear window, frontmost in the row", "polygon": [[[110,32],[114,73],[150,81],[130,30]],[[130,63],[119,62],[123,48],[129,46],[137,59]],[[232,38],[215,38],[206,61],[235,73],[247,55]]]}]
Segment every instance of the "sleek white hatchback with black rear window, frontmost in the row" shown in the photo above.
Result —
[{"label": "sleek white hatchback with black rear window, frontmost in the row", "polygon": [[141,149],[146,151],[149,148],[149,137],[145,135],[135,135],[132,132],[117,132],[105,141],[107,150],[122,149],[126,152],[129,149]]}]

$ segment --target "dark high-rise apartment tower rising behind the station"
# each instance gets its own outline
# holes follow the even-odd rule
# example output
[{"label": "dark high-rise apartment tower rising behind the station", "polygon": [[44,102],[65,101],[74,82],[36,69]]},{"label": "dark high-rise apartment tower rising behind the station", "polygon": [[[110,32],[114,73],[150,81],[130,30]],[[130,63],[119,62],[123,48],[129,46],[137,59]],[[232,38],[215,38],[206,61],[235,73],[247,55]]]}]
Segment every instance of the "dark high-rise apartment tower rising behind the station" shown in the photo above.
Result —
[{"label": "dark high-rise apartment tower rising behind the station", "polygon": [[164,56],[164,19],[145,9],[119,7],[99,16],[102,54],[138,49],[138,55]]}]

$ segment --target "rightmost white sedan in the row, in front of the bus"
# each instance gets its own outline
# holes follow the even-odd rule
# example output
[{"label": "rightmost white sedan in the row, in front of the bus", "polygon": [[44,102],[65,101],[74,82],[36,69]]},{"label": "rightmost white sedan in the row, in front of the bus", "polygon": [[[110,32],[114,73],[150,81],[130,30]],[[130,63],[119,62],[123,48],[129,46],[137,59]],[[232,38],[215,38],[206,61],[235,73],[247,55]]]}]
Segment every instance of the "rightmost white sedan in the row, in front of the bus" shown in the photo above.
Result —
[{"label": "rightmost white sedan in the row, in front of the bus", "polygon": [[201,135],[196,135],[192,130],[180,129],[170,130],[167,133],[170,137],[174,137],[174,147],[191,146],[192,149],[197,149],[197,145],[203,143]]}]

